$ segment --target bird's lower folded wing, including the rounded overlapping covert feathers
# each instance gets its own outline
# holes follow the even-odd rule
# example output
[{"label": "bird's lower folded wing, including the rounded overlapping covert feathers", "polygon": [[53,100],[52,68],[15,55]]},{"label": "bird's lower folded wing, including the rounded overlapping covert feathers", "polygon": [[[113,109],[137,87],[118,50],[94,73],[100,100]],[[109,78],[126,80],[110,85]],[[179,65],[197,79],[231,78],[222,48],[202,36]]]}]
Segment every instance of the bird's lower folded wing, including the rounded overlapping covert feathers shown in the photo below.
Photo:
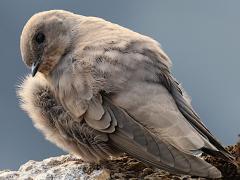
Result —
[{"label": "bird's lower folded wing, including the rounded overlapping covert feathers", "polygon": [[[178,174],[192,174],[202,177],[220,177],[221,173],[212,165],[192,154],[179,151],[167,141],[158,138],[155,134],[136,121],[126,110],[115,106],[106,97],[101,99],[102,106],[96,106],[92,113],[86,113],[86,123],[93,129],[108,134],[108,145],[112,149],[126,152],[135,158]],[[91,106],[91,105],[90,105]],[[91,108],[90,108],[91,109]],[[98,109],[98,110],[97,110]],[[102,111],[102,117],[94,113]],[[99,125],[101,124],[101,125]]]}]

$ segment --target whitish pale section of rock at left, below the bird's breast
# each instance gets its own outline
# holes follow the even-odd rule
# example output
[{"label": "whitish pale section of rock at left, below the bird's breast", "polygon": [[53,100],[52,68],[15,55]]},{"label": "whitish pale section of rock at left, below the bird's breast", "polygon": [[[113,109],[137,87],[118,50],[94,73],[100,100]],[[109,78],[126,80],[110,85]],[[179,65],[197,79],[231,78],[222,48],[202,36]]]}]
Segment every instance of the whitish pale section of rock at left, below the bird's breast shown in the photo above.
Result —
[{"label": "whitish pale section of rock at left, below the bird's breast", "polygon": [[71,155],[52,157],[43,161],[28,161],[18,171],[0,171],[0,180],[85,180],[109,179],[110,173],[103,168],[93,169],[91,164],[84,163]]}]

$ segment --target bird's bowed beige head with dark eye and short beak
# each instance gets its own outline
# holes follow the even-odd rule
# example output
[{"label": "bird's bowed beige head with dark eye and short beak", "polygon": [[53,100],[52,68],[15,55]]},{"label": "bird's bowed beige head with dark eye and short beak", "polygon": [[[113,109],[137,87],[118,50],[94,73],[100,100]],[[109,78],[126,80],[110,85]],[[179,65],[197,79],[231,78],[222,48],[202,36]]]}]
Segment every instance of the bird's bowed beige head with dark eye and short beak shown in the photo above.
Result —
[{"label": "bird's bowed beige head with dark eye and short beak", "polygon": [[71,26],[66,19],[73,14],[61,10],[33,15],[23,28],[20,48],[22,59],[32,68],[47,75],[71,46]]}]

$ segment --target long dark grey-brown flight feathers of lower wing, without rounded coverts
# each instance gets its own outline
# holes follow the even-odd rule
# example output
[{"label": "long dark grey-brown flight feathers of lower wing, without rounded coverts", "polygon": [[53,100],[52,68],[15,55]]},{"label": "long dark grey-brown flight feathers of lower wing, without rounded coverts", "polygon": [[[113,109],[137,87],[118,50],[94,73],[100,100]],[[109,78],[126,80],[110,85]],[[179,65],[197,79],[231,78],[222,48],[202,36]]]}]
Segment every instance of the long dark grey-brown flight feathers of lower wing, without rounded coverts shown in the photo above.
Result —
[{"label": "long dark grey-brown flight feathers of lower wing, without rounded coverts", "polygon": [[113,147],[172,173],[189,173],[204,177],[208,177],[209,174],[221,176],[212,165],[159,139],[124,109],[116,107],[106,98],[104,100],[103,105],[107,104],[110,107],[118,124],[121,125],[116,127],[114,133],[108,134],[109,143]]}]

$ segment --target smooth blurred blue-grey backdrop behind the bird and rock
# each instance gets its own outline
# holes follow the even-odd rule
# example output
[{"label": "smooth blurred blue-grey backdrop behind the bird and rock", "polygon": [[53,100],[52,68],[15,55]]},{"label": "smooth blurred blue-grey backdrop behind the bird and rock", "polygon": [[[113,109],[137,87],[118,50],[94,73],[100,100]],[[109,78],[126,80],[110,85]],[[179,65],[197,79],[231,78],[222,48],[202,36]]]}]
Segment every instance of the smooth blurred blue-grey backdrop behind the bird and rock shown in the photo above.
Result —
[{"label": "smooth blurred blue-grey backdrop behind the bird and rock", "polygon": [[0,1],[0,169],[63,154],[19,108],[16,86],[29,73],[19,37],[39,11],[98,16],[156,39],[203,122],[225,145],[240,133],[240,1]]}]

